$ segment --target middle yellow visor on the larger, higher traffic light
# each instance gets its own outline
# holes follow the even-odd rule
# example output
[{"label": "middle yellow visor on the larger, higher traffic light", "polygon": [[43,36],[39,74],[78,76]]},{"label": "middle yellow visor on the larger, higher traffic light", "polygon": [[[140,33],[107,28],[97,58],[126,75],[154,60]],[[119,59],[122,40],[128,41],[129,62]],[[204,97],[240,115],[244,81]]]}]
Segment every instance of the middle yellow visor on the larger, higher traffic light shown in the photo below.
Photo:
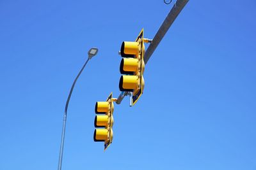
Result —
[{"label": "middle yellow visor on the larger, higher traffic light", "polygon": [[134,72],[138,71],[138,59],[133,58],[124,58],[120,63],[120,73],[121,74],[134,74]]}]

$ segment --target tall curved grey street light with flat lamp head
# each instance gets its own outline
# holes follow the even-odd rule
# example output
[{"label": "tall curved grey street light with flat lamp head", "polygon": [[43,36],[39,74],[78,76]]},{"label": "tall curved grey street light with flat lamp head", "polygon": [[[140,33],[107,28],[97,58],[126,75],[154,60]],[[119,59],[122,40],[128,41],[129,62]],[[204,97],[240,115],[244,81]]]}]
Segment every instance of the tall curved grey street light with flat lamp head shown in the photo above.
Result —
[{"label": "tall curved grey street light with flat lamp head", "polygon": [[79,73],[76,76],[76,79],[73,82],[73,85],[70,89],[70,92],[68,94],[68,99],[65,105],[65,111],[64,111],[64,116],[63,116],[63,127],[62,127],[62,134],[61,134],[61,144],[60,144],[60,157],[59,157],[59,164],[58,164],[58,170],[61,170],[61,164],[62,164],[62,156],[63,156],[63,146],[64,146],[64,139],[65,139],[65,129],[66,129],[66,122],[67,122],[67,110],[68,110],[68,103],[70,101],[71,94],[73,92],[73,89],[76,85],[76,81],[79,78],[80,74],[83,72],[84,67],[86,66],[87,62],[92,59],[93,56],[95,56],[98,53],[98,48],[92,47],[88,51],[88,59],[84,63],[84,66],[82,69],[79,71]]}]

